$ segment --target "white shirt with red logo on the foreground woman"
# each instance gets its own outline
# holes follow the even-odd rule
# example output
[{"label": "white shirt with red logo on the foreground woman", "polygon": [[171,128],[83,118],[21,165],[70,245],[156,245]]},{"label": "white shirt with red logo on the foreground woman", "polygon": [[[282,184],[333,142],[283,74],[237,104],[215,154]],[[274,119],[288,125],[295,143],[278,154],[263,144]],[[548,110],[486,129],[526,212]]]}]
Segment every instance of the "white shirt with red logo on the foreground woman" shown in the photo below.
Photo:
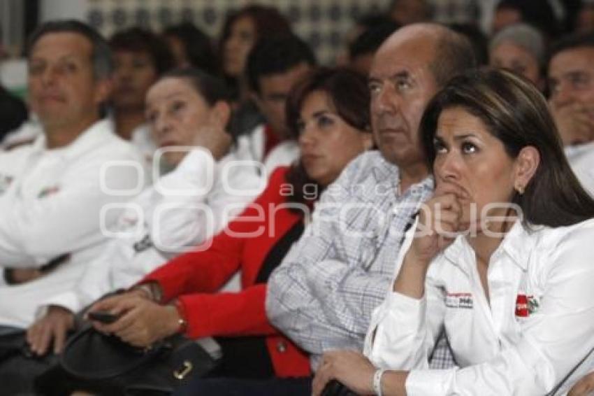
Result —
[{"label": "white shirt with red logo on the foreground woman", "polygon": [[[365,355],[377,367],[410,370],[409,396],[548,393],[594,347],[592,241],[594,220],[533,232],[516,222],[488,265],[489,304],[474,250],[458,236],[431,263],[421,299],[388,292],[373,313]],[[459,367],[430,370],[442,330]],[[556,394],[593,369],[593,360],[588,355]]]}]

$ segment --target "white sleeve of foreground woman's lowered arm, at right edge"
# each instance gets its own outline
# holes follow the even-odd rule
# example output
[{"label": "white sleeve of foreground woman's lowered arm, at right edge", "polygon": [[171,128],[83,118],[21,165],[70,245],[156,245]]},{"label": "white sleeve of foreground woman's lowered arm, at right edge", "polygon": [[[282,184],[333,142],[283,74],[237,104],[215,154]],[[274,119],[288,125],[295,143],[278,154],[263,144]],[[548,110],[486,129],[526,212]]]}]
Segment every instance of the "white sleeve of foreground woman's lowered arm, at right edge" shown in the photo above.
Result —
[{"label": "white sleeve of foreground woman's lowered arm, at right edge", "polygon": [[[594,347],[593,234],[591,227],[579,228],[538,256],[546,262],[539,309],[511,346],[462,369],[413,369],[407,395],[544,395],[563,381]],[[592,359],[579,365],[557,394],[592,369]]]}]

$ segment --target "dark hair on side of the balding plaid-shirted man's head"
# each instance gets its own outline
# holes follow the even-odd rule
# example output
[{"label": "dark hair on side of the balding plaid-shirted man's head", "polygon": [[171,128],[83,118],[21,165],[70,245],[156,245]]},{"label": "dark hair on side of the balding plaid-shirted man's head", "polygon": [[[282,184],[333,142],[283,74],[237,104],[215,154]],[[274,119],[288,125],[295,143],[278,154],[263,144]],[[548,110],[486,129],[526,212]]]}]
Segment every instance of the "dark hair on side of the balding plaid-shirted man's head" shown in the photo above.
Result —
[{"label": "dark hair on side of the balding plaid-shirted man's head", "polygon": [[429,64],[438,87],[445,85],[456,74],[477,66],[468,38],[447,27],[440,28],[439,38],[435,41],[435,55]]}]

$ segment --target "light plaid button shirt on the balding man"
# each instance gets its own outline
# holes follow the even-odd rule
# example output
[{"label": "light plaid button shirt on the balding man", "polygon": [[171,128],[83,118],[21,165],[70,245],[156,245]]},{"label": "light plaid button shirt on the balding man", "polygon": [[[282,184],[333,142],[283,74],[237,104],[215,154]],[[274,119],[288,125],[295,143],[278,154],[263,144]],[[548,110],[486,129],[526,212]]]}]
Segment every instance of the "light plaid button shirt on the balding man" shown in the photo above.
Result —
[{"label": "light plaid button shirt on the balding man", "polygon": [[[398,195],[398,167],[377,152],[354,160],[317,204],[313,220],[268,280],[273,325],[317,358],[363,350],[373,309],[393,279],[404,232],[433,193],[428,177]],[[435,367],[451,367],[449,351]]]}]

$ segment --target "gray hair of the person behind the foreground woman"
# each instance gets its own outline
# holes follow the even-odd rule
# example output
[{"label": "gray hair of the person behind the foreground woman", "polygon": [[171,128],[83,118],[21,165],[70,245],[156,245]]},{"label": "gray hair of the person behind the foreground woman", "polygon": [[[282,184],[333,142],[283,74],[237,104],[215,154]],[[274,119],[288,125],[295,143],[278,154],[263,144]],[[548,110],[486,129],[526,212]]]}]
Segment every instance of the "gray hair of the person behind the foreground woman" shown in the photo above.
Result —
[{"label": "gray hair of the person behind the foreground woman", "polygon": [[493,52],[502,43],[512,43],[528,51],[535,57],[539,66],[544,64],[546,48],[542,33],[535,27],[525,23],[512,24],[505,27],[491,38],[489,52]]}]

